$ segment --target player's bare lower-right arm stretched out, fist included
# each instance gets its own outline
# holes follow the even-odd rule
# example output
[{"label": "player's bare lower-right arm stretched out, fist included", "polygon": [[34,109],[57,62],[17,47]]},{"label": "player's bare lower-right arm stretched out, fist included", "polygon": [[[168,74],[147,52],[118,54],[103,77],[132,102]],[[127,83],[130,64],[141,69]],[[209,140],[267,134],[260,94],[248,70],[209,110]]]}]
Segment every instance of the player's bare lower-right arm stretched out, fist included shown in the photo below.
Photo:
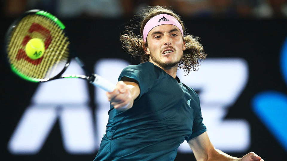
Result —
[{"label": "player's bare lower-right arm stretched out, fist included", "polygon": [[196,160],[198,161],[264,161],[254,152],[250,152],[242,158],[231,157],[230,155],[214,148],[209,140],[207,132],[204,132],[201,135],[189,140],[188,144],[192,149]]}]

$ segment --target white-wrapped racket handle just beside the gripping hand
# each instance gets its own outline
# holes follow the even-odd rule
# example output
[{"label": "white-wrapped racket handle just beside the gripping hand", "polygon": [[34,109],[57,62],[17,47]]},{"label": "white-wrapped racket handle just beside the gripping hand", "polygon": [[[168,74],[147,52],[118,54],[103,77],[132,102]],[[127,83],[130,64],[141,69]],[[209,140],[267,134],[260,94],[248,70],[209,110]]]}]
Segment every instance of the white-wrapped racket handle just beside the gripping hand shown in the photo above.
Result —
[{"label": "white-wrapped racket handle just beside the gripping hand", "polygon": [[100,87],[103,90],[107,91],[107,92],[113,92],[116,88],[116,85],[109,82],[108,80],[106,80],[105,78],[93,74],[95,79],[94,81],[91,81],[90,83],[92,83],[94,86]]}]

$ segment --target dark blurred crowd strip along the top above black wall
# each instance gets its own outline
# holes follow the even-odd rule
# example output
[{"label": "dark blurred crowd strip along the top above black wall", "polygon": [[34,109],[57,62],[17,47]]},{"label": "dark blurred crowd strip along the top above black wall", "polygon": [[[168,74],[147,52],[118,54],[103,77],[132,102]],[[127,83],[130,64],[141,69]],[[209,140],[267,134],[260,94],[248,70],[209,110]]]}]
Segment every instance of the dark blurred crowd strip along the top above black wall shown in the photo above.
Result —
[{"label": "dark blurred crowd strip along the top above black wall", "polygon": [[3,0],[2,15],[41,9],[61,18],[132,17],[146,6],[167,6],[193,18],[286,18],[287,0]]}]

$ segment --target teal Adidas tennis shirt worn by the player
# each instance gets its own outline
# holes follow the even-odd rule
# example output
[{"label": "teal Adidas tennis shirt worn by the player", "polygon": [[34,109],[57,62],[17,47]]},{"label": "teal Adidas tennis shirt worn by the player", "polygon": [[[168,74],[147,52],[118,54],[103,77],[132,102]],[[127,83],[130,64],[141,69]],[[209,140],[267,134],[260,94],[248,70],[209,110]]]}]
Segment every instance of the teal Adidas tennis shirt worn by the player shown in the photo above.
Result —
[{"label": "teal Adidas tennis shirt worn by the player", "polygon": [[172,161],[184,140],[206,131],[196,92],[150,62],[127,66],[123,77],[135,80],[141,93],[132,108],[110,106],[106,134],[94,161]]}]

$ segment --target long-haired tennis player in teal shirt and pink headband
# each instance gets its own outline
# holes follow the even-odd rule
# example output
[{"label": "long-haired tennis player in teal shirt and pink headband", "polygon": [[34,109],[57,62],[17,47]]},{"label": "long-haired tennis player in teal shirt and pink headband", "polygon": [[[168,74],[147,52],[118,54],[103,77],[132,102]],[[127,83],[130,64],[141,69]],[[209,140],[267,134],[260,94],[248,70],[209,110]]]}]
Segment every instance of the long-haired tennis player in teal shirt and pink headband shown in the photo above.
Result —
[{"label": "long-haired tennis player in teal shirt and pink headband", "polygon": [[184,140],[196,160],[263,161],[254,152],[231,157],[210,143],[198,95],[176,76],[178,67],[189,73],[206,57],[198,38],[184,35],[180,17],[149,7],[140,32],[143,37],[132,31],[120,37],[124,49],[140,55],[142,63],[123,69],[117,88],[106,93],[109,121],[94,161],[172,161]]}]

